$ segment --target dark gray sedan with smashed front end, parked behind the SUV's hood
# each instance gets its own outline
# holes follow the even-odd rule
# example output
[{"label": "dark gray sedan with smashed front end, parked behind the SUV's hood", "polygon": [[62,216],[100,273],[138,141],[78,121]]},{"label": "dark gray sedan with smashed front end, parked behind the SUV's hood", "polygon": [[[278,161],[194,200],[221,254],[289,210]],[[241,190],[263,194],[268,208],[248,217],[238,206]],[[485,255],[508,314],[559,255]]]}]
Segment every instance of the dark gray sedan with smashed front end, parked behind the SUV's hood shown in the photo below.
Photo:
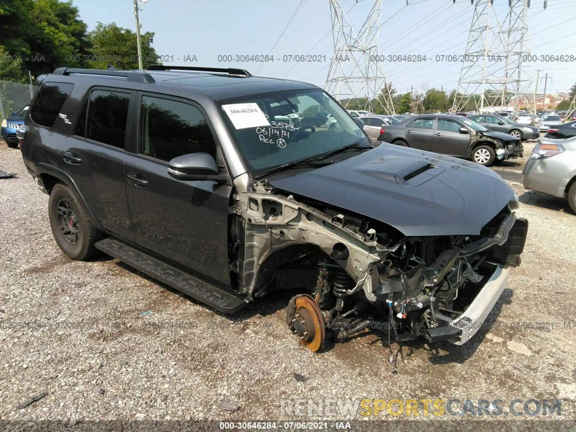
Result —
[{"label": "dark gray sedan with smashed front end, parked behind the SUV's hood", "polygon": [[452,115],[419,115],[384,126],[378,141],[461,157],[484,166],[522,157],[524,152],[517,137]]}]

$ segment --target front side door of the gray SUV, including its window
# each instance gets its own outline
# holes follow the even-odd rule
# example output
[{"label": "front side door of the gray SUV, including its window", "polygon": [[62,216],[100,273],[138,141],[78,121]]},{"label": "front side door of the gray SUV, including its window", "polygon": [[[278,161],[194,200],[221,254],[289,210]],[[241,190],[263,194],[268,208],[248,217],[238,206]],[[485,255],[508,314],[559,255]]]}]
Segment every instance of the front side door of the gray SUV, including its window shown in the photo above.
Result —
[{"label": "front side door of the gray SUV, including its window", "polygon": [[206,116],[191,101],[146,93],[135,111],[134,153],[126,160],[124,175],[136,243],[230,286],[232,187],[211,180],[176,180],[168,174],[168,162],[183,154],[203,152],[217,158]]}]

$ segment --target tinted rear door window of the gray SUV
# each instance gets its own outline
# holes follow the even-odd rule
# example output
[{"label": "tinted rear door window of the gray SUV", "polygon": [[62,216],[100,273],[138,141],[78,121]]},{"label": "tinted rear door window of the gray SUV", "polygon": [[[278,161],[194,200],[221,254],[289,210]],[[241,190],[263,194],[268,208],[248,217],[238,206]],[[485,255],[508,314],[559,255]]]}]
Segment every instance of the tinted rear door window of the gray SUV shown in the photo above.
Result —
[{"label": "tinted rear door window of the gray SUV", "polygon": [[94,90],[78,119],[75,135],[124,149],[130,93]]}]

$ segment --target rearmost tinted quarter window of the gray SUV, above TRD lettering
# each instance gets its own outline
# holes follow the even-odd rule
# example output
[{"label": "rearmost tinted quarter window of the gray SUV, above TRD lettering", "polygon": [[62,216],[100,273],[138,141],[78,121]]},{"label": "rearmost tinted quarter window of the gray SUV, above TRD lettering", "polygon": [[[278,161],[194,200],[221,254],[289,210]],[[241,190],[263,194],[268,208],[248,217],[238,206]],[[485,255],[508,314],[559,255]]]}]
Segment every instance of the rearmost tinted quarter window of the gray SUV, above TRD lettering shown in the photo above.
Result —
[{"label": "rearmost tinted quarter window of the gray SUV, above TRD lettering", "polygon": [[40,126],[52,127],[73,88],[74,84],[67,82],[47,82],[44,84],[30,110],[32,122]]}]

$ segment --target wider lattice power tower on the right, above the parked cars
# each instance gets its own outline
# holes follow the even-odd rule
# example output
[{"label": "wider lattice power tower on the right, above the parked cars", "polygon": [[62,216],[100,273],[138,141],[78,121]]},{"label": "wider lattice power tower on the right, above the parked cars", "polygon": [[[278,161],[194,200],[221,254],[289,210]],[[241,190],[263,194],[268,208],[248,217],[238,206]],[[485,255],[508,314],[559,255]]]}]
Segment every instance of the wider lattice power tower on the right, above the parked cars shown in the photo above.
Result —
[{"label": "wider lattice power tower on the right, above the parked cars", "polygon": [[452,109],[463,109],[471,100],[476,110],[505,108],[512,96],[518,108],[521,95],[532,93],[529,3],[508,0],[497,8],[494,0],[476,0]]}]

